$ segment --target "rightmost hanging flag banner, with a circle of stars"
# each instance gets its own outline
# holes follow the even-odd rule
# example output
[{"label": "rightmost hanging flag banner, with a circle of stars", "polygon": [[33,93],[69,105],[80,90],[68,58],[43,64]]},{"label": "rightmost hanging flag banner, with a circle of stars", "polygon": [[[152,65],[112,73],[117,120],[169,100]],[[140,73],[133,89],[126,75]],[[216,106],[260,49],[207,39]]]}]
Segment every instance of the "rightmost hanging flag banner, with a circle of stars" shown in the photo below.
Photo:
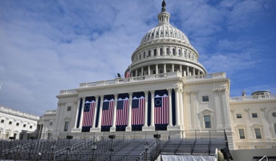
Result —
[{"label": "rightmost hanging flag banner, with a circle of stars", "polygon": [[155,91],[155,124],[168,124],[169,97],[167,90]]}]

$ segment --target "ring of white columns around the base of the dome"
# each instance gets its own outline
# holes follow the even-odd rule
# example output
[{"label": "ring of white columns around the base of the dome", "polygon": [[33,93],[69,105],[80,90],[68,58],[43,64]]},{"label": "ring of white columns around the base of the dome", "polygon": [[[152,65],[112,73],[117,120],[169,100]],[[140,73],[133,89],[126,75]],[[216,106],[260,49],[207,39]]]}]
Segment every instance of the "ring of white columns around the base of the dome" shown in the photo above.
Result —
[{"label": "ring of white columns around the base of the dome", "polygon": [[[167,72],[167,70],[166,70],[167,69],[166,64],[162,64],[163,65],[163,67],[161,68],[161,69],[163,69],[162,73],[158,72],[158,69],[160,69],[160,67],[158,68],[158,65],[160,65],[160,64],[155,64],[155,67],[152,68],[152,69],[151,69],[151,65],[148,65],[146,67],[143,66],[143,67],[140,67],[140,68],[136,68],[135,70],[131,70],[130,71],[131,72],[131,76],[132,77],[133,76],[137,77],[137,76],[146,75],[144,72],[147,71],[147,70],[148,70],[148,72],[146,72],[147,75],[151,75],[151,71],[153,71],[153,70],[155,70],[155,73],[153,72],[152,74],[162,74],[162,73],[166,73]],[[144,68],[146,68],[145,71],[144,71]],[[174,72],[174,70],[175,70],[174,64],[171,64],[171,68],[169,68],[169,69],[171,69],[170,72]],[[201,75],[201,74],[203,74],[202,71],[198,70],[195,67],[190,67],[190,66],[186,66],[186,70],[184,69],[182,71],[182,65],[181,64],[179,64],[179,68],[177,68],[177,70],[179,72],[181,72],[183,76]]]}]

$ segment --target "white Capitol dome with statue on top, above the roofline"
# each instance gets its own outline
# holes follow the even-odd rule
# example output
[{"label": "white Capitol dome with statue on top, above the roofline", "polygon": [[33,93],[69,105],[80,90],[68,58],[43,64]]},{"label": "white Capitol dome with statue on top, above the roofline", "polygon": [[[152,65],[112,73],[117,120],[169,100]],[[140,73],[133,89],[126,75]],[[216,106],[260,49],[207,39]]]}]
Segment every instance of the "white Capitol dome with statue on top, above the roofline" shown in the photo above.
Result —
[{"label": "white Capitol dome with statue on top, above the roofline", "polygon": [[135,77],[177,71],[182,76],[206,74],[188,37],[170,25],[170,14],[166,12],[165,5],[158,14],[158,26],[145,34],[133,52],[132,63],[125,70],[125,76],[129,71],[130,76]]}]

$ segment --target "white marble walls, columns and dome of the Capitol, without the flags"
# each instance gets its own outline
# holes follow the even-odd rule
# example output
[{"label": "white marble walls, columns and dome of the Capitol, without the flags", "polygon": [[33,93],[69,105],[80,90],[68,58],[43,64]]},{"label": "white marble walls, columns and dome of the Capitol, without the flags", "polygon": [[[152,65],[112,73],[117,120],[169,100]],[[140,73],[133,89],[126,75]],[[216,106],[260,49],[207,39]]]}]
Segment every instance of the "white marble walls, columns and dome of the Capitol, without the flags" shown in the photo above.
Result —
[{"label": "white marble walls, columns and dome of the Capitol, without the flags", "polygon": [[[230,79],[224,72],[207,74],[198,62],[197,50],[183,32],[170,25],[169,19],[170,14],[162,9],[158,14],[158,26],[145,34],[131,56],[132,64],[124,74],[130,71],[129,78],[80,83],[77,89],[60,91],[56,96],[57,110],[45,113],[39,121],[39,127],[43,125],[39,131],[52,132],[55,136],[66,132],[81,133],[84,112],[81,100],[93,96],[99,109],[94,109],[89,131],[100,133],[103,97],[114,95],[116,107],[118,94],[127,93],[131,100],[135,92],[144,92],[145,116],[151,111],[151,117],[144,118],[144,122],[150,124],[144,124],[141,130],[155,131],[154,92],[167,90],[168,131],[225,130],[231,149],[275,147],[276,97],[230,97]],[[152,95],[152,100],[148,100],[148,95]],[[131,111],[131,101],[129,106]],[[97,125],[96,110],[100,110]],[[237,119],[237,114],[241,118]],[[116,116],[116,110],[113,115]],[[125,131],[131,131],[130,113],[128,116]],[[110,131],[116,131],[115,122],[116,117],[113,117]],[[239,135],[239,132],[243,135],[241,129],[244,138]]]}]

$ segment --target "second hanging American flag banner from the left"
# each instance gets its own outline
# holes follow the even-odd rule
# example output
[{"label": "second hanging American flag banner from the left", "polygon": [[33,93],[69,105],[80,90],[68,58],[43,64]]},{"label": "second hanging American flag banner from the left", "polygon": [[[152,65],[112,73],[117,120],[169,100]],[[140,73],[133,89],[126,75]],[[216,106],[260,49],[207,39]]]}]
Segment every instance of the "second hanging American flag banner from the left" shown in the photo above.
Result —
[{"label": "second hanging American flag banner from the left", "polygon": [[102,126],[112,126],[114,95],[105,95],[103,101]]}]

